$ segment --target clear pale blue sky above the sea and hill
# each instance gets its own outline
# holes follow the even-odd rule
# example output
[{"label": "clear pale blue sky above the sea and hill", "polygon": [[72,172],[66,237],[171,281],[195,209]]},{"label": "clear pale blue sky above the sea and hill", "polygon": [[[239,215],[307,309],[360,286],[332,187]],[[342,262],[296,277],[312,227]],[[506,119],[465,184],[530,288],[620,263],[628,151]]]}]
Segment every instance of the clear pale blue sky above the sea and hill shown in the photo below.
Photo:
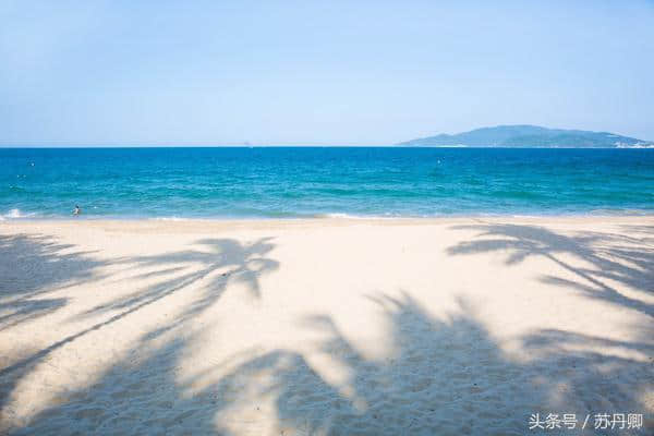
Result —
[{"label": "clear pale blue sky above the sea and hill", "polygon": [[0,1],[0,144],[654,140],[654,2]]}]

